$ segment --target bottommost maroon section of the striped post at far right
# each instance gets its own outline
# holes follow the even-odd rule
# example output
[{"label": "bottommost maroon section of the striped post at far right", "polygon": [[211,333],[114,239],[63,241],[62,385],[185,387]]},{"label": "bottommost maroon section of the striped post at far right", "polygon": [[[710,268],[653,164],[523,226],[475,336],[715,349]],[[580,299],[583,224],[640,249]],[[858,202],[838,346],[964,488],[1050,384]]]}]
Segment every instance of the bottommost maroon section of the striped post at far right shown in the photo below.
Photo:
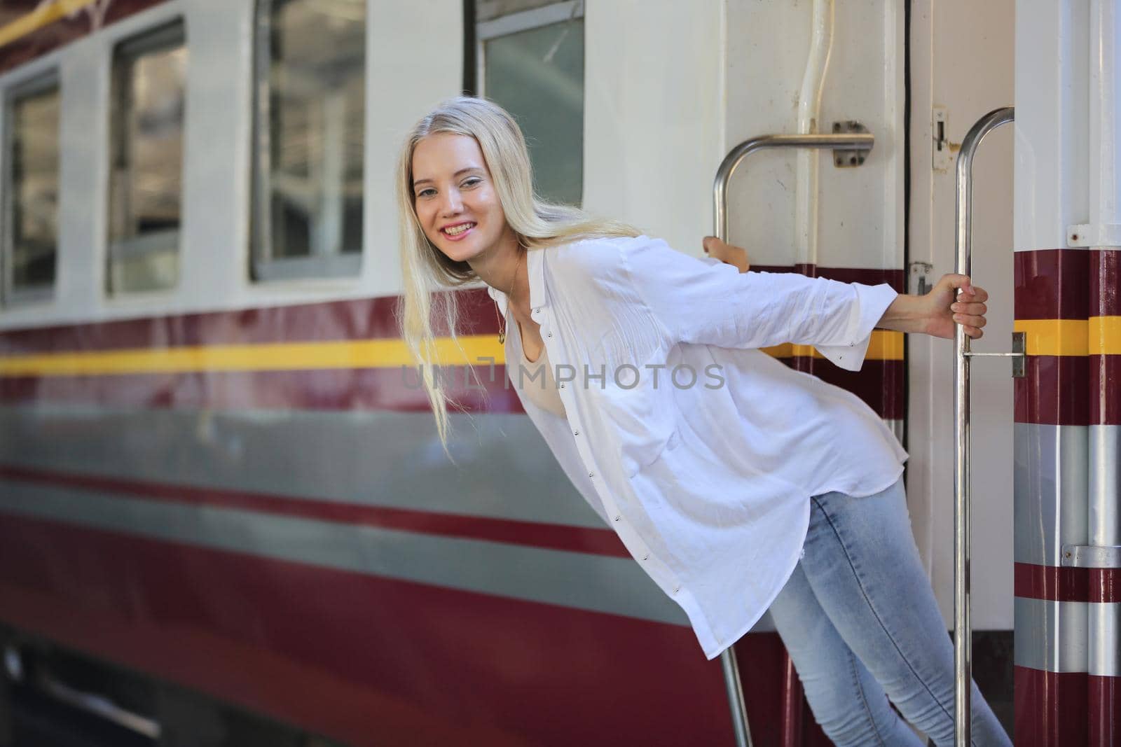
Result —
[{"label": "bottommost maroon section of the striped post at far right", "polygon": [[1086,745],[1086,673],[1013,667],[1016,747]]}]

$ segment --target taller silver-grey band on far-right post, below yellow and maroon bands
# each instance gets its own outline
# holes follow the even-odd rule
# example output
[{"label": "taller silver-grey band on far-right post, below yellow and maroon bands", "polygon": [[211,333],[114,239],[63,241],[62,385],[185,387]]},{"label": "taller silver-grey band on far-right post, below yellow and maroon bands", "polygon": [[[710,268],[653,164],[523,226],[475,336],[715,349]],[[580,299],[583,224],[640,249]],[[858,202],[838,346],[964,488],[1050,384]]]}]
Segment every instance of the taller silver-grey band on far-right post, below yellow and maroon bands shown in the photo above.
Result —
[{"label": "taller silver-grey band on far-right post, below yellow and maroon bands", "polygon": [[1085,426],[1013,426],[1016,562],[1060,566],[1063,544],[1086,544]]}]

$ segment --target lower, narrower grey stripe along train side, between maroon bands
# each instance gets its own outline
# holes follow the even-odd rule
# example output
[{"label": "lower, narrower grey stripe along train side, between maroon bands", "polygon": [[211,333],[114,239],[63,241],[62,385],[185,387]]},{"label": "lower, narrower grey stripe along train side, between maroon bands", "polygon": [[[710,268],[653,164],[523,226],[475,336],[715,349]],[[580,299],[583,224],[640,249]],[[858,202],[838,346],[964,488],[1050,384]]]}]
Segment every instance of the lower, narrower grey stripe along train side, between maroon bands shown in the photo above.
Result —
[{"label": "lower, narrower grey stripe along train side, between maroon bands", "polygon": [[688,625],[630,558],[461,540],[0,480],[0,512],[78,526]]}]

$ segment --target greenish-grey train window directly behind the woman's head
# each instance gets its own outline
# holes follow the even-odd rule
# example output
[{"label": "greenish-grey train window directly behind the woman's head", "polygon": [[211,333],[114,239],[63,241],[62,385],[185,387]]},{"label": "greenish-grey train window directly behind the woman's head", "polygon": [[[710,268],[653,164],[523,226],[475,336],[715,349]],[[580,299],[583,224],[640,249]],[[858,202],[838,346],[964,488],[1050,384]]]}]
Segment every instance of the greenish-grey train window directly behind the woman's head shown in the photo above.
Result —
[{"label": "greenish-grey train window directly behind the woman's head", "polygon": [[580,205],[584,185],[583,2],[484,2],[476,20],[481,93],[518,120],[529,143],[538,194]]}]

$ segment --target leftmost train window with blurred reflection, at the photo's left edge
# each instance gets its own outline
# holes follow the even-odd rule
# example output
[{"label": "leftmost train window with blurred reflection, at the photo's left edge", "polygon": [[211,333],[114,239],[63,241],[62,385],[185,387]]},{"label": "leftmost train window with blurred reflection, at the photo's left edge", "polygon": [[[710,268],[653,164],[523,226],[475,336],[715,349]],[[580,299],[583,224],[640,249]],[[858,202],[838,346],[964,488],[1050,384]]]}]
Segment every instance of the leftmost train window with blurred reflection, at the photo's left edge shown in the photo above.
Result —
[{"label": "leftmost train window with blurred reflection, at the photo's left edge", "polygon": [[4,112],[4,302],[49,298],[58,252],[58,78],[13,88]]}]

